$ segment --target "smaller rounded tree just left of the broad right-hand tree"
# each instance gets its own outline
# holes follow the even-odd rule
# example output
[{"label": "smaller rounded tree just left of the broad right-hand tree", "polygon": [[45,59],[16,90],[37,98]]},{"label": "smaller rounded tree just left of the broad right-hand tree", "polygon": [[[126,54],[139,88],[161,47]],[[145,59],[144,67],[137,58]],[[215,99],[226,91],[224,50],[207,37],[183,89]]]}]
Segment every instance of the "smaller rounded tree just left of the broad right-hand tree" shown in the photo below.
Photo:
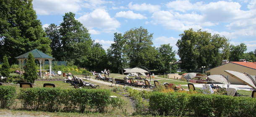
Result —
[{"label": "smaller rounded tree just left of the broad right-hand tree", "polygon": [[170,44],[162,44],[159,48],[157,48],[157,57],[153,63],[156,69],[164,73],[176,73],[177,72],[177,64],[175,61],[175,51],[172,50],[172,46]]}]

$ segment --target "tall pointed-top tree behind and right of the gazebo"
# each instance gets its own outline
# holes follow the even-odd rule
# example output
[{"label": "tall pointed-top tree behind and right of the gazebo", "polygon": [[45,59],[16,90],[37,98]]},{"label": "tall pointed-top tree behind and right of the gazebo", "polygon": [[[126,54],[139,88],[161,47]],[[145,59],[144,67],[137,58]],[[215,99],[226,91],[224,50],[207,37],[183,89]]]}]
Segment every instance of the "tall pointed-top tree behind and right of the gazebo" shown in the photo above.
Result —
[{"label": "tall pointed-top tree behind and right of the gazebo", "polygon": [[89,31],[76,20],[74,13],[65,13],[60,27],[51,24],[46,32],[52,41],[51,48],[56,49],[53,57],[57,60],[68,61],[77,66],[88,62],[93,42]]}]

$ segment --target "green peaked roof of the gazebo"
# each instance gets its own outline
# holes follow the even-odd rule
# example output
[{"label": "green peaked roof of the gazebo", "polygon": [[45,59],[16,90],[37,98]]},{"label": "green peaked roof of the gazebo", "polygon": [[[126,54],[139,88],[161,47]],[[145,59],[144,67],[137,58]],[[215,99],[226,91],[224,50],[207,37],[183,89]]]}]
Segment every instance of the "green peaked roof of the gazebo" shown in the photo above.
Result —
[{"label": "green peaked roof of the gazebo", "polygon": [[34,50],[29,51],[29,52],[27,52],[27,53],[24,53],[24,54],[22,54],[22,55],[20,55],[20,56],[18,56],[18,57],[15,57],[15,58],[28,58],[29,53],[32,53],[32,55],[34,56],[34,58],[46,58],[46,59],[49,58],[49,59],[54,59],[52,56],[49,56],[49,55],[47,55],[47,54],[45,54],[45,53],[43,53],[42,51],[39,51],[39,50],[37,50],[37,49],[34,49]]}]

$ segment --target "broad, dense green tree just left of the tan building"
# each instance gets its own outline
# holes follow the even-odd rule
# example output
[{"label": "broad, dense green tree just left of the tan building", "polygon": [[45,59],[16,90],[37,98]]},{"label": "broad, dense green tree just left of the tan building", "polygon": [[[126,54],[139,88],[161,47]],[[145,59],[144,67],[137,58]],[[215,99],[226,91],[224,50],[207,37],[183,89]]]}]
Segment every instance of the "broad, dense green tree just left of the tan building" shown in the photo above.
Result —
[{"label": "broad, dense green tree just left of the tan building", "polygon": [[189,29],[180,34],[181,39],[176,43],[178,55],[181,59],[181,67],[188,71],[194,71],[201,66],[215,67],[221,64],[222,59],[227,59],[229,42],[224,36],[212,35],[207,31],[193,31]]}]

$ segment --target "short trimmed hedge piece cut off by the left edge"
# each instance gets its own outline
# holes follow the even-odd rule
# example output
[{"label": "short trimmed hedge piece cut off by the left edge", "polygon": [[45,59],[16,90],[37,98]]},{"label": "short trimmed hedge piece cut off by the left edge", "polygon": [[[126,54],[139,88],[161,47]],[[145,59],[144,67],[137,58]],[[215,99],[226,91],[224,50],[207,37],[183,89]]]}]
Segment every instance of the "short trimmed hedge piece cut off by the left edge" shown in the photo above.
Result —
[{"label": "short trimmed hedge piece cut off by the left edge", "polygon": [[16,96],[16,87],[14,86],[0,86],[0,106],[1,108],[10,107]]}]

